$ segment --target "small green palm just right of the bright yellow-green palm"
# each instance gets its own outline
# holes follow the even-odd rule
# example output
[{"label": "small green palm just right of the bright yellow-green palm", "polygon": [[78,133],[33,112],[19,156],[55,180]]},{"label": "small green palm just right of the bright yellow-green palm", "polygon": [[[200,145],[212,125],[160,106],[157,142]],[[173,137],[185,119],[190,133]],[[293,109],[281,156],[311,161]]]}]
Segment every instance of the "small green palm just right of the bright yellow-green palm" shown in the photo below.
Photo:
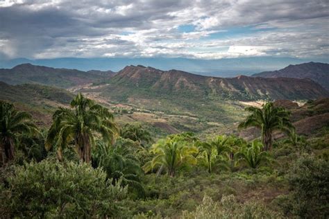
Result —
[{"label": "small green palm just right of the bright yellow-green palm", "polygon": [[226,141],[225,135],[219,135],[208,142],[199,141],[196,143],[200,152],[197,158],[201,161],[201,164],[207,166],[208,173],[212,173],[212,166],[226,164],[226,152],[230,150],[226,146]]}]

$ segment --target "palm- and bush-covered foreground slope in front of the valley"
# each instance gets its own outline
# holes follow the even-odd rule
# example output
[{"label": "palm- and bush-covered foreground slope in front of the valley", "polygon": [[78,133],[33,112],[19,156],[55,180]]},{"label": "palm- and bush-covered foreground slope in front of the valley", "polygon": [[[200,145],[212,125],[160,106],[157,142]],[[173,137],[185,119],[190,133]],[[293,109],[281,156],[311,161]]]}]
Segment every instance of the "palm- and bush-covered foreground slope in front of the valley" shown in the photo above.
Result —
[{"label": "palm- and bush-covered foreground slope in front of the valley", "polygon": [[[46,96],[50,128],[0,103],[5,218],[329,216],[328,98],[302,107],[291,101],[249,106],[225,135],[180,132],[149,112],[118,106],[112,112],[108,100],[98,103],[82,94],[69,107],[66,100],[54,105],[62,101],[58,96]],[[133,116],[149,116],[174,134],[150,133],[149,125],[131,123]]]}]

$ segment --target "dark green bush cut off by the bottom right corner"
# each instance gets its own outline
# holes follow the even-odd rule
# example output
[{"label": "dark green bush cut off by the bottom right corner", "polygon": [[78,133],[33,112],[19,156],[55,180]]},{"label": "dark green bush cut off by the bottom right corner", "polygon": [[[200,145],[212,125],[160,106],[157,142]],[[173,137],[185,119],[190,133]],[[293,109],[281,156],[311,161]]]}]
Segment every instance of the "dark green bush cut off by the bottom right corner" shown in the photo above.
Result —
[{"label": "dark green bush cut off by the bottom right corner", "polygon": [[288,180],[292,193],[285,198],[287,202],[281,204],[286,213],[301,218],[329,217],[328,161],[310,156],[302,157],[290,170]]}]

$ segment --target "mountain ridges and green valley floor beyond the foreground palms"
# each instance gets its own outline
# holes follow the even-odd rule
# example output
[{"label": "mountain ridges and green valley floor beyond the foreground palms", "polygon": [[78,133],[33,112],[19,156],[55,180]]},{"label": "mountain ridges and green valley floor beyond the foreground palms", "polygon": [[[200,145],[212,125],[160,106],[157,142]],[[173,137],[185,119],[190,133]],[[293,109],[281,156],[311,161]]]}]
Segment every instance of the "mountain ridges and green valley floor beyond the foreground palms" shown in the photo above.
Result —
[{"label": "mountain ridges and green valley floor beyond the foreground palms", "polygon": [[[157,133],[206,134],[234,128],[246,116],[245,105],[257,100],[328,97],[329,91],[312,79],[218,78],[142,65],[115,73],[19,64],[0,69],[0,99],[31,112],[47,126],[56,107],[68,105],[71,92],[82,92],[117,112],[120,123],[142,122]],[[129,113],[122,114],[123,109]]]}]

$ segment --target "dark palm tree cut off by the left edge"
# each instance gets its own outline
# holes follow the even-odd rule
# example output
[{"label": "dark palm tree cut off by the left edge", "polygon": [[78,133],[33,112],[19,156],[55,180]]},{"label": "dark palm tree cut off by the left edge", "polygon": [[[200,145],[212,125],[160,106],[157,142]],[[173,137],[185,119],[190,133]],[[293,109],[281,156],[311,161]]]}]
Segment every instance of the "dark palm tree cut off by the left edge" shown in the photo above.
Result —
[{"label": "dark palm tree cut off by the left edge", "polygon": [[31,122],[32,116],[27,112],[17,111],[14,105],[0,101],[0,149],[1,163],[11,161],[15,157],[15,142],[21,134],[31,135],[37,132]]}]

